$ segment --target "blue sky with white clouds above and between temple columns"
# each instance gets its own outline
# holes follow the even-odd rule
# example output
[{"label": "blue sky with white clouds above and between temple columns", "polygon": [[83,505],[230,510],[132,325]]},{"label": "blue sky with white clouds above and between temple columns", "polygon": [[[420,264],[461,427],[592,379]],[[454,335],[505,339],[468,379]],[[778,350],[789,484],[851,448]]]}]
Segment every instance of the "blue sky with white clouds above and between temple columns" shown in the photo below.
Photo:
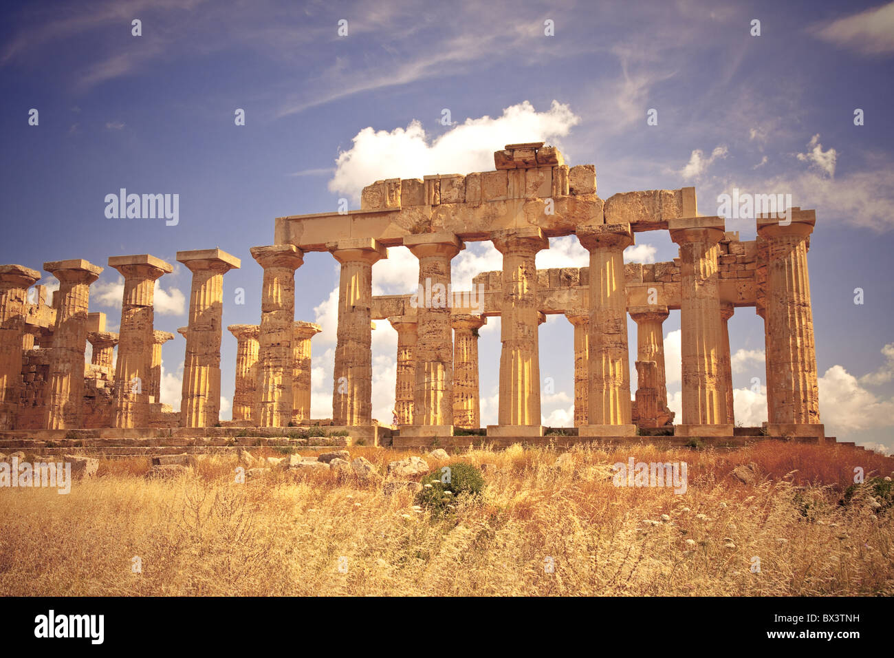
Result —
[{"label": "blue sky with white clouds above and between temple columns", "polygon": [[[273,242],[275,217],[333,210],[342,197],[357,208],[359,189],[377,178],[492,169],[488,154],[503,144],[546,139],[570,164],[595,164],[603,199],[695,185],[700,212],[712,215],[717,195],[738,187],[790,193],[794,205],[816,209],[809,261],[822,420],[839,438],[894,448],[894,4],[124,1],[4,9],[0,261],[105,266],[111,255],[148,252],[174,263],[177,251],[219,246],[242,259],[224,279],[224,323],[257,323],[261,269],[249,247]],[[750,34],[755,19],[760,36]],[[338,34],[341,20],[347,36]],[[544,21],[554,36],[544,35]],[[234,123],[237,108],[244,126]],[[650,108],[657,125],[646,125]],[[854,124],[856,108],[864,125]],[[105,218],[105,195],[122,187],[179,194],[179,224]],[[754,237],[751,222],[728,229]],[[676,255],[666,234],[637,234],[637,244],[629,256],[638,261]],[[414,262],[391,251],[375,266],[375,292],[407,293]],[[582,258],[574,238],[553,240],[538,267]],[[469,244],[453,264],[458,282],[500,267],[488,243]],[[186,323],[189,274],[179,266],[162,278],[156,329]],[[308,254],[296,275],[296,319],[327,324],[313,343],[316,416],[331,413],[337,280],[332,257],[321,253]],[[91,311],[106,312],[112,329],[117,283],[106,269],[91,297]],[[243,305],[234,303],[237,287],[246,291]],[[378,326],[374,407],[388,422],[396,334],[387,322]],[[485,424],[495,422],[498,326],[491,320],[480,342]],[[672,408],[678,329],[674,312],[664,326]],[[541,327],[542,376],[555,391],[544,384],[544,423],[570,423],[571,336],[562,317]],[[764,377],[763,323],[753,310],[730,320],[730,339],[737,418],[759,423],[765,398],[750,387]],[[174,406],[184,347],[179,335],[164,346],[163,399]],[[225,332],[227,399],[235,348]]]}]

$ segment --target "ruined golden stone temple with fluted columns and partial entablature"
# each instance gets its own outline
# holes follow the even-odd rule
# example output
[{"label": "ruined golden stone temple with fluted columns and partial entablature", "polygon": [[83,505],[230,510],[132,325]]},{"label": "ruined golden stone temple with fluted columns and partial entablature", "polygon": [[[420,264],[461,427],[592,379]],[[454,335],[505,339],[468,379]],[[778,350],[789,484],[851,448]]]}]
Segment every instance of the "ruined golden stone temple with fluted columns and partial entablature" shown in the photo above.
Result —
[{"label": "ruined golden stone temple with fluted columns and partial entablature", "polygon": [[[771,436],[822,440],[807,251],[813,210],[761,215],[740,241],[721,217],[704,217],[694,188],[623,192],[603,200],[595,167],[569,166],[542,142],[507,145],[494,169],[467,175],[388,179],[364,188],[348,212],[277,218],[274,244],[249,252],[262,282],[254,325],[230,325],[237,340],[232,421],[221,419],[223,278],[240,259],[219,249],[178,252],[192,272],[181,411],[161,404],[155,282],[172,266],[155,256],[115,256],[124,278],[118,333],[89,313],[102,268],[54,261],[47,303],[37,270],[0,266],[0,429],[205,428],[327,424],[355,439],[395,445],[479,437],[478,331],[501,318],[499,422],[494,441],[542,440],[539,326],[561,314],[573,326],[576,440],[631,440],[637,433],[731,438],[735,428],[729,322],[754,307],[763,318]],[[637,234],[668,231],[679,258],[625,263]],[[575,235],[584,268],[536,269],[553,237]],[[470,291],[451,288],[451,260],[469,242],[491,241],[502,269]],[[374,296],[372,271],[390,249],[418,261],[404,295]],[[338,263],[338,326],[330,418],[312,418],[311,342],[321,329],[296,320],[296,279],[307,252]],[[301,287],[299,286],[299,290]],[[300,294],[300,293],[299,293]],[[680,313],[682,414],[668,408],[662,324]],[[101,317],[100,317],[101,316]],[[637,336],[628,340],[628,317]],[[397,331],[393,417],[373,417],[372,330]],[[87,343],[91,363],[85,363]],[[115,355],[115,350],[117,354]],[[632,362],[632,365],[631,365]],[[637,389],[631,390],[631,370]],[[740,432],[739,432],[740,433]]]}]

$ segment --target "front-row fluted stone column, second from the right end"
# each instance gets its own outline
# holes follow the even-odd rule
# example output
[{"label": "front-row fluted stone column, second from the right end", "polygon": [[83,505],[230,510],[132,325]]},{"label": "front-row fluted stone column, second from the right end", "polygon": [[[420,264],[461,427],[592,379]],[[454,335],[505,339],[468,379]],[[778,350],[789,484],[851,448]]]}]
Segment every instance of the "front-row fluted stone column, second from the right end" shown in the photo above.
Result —
[{"label": "front-row fluted stone column, second from the right end", "polygon": [[718,243],[723,237],[723,218],[671,219],[669,228],[671,240],[679,244],[683,360],[683,417],[675,433],[731,436],[721,374]]}]

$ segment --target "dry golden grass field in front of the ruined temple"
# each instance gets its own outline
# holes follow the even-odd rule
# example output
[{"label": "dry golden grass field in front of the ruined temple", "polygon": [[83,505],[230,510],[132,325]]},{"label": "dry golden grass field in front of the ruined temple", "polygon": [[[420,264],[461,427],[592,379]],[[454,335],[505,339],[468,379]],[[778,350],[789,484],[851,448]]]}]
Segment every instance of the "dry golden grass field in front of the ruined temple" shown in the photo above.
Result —
[{"label": "dry golden grass field in front of the ruined temple", "polygon": [[[418,453],[351,449],[378,466],[409,454]],[[412,509],[409,492],[385,497],[381,485],[327,473],[232,483],[233,457],[148,481],[147,459],[103,461],[96,480],[68,495],[0,490],[0,594],[894,594],[891,510],[838,505],[854,466],[886,475],[890,458],[775,441],[571,455],[561,468],[549,449],[451,457],[497,470],[485,474],[483,500],[460,500],[440,520]],[[688,491],[618,488],[600,476],[631,456],[686,461]],[[730,477],[749,463],[757,483]]]}]

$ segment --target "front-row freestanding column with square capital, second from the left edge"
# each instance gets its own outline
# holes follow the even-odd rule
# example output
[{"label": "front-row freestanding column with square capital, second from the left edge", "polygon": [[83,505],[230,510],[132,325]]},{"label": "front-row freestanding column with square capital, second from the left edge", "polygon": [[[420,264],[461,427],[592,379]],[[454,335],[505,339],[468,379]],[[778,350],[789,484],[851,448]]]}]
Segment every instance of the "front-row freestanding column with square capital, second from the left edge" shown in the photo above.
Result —
[{"label": "front-row freestanding column with square capital, second from the left edge", "polygon": [[44,263],[59,280],[59,302],[46,382],[46,429],[80,427],[84,396],[84,353],[87,350],[87,312],[90,284],[102,268],[88,261]]}]

